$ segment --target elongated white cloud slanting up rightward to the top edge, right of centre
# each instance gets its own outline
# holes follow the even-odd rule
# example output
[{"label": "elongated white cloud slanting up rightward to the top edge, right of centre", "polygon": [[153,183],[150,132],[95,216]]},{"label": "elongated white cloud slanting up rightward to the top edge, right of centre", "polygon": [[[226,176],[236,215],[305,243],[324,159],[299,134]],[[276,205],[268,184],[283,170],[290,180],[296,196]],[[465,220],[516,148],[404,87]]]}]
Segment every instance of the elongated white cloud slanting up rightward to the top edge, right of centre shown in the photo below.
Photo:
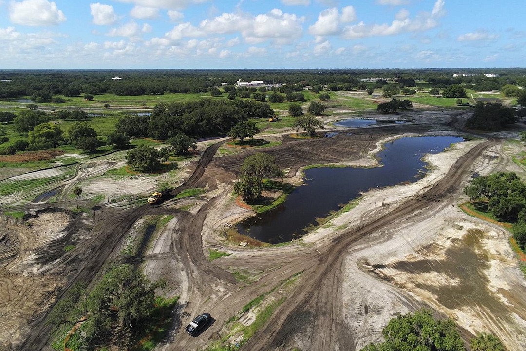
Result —
[{"label": "elongated white cloud slanting up rightward to the top edge, right of centre", "polygon": [[[433,12],[423,12],[414,18],[394,19],[390,24],[367,25],[360,22],[357,25],[348,26],[343,29],[343,37],[346,39],[366,38],[372,36],[395,35],[399,33],[427,31],[439,25],[438,18],[443,16],[443,0],[437,0],[434,4]],[[403,13],[399,18],[402,18]]]}]

